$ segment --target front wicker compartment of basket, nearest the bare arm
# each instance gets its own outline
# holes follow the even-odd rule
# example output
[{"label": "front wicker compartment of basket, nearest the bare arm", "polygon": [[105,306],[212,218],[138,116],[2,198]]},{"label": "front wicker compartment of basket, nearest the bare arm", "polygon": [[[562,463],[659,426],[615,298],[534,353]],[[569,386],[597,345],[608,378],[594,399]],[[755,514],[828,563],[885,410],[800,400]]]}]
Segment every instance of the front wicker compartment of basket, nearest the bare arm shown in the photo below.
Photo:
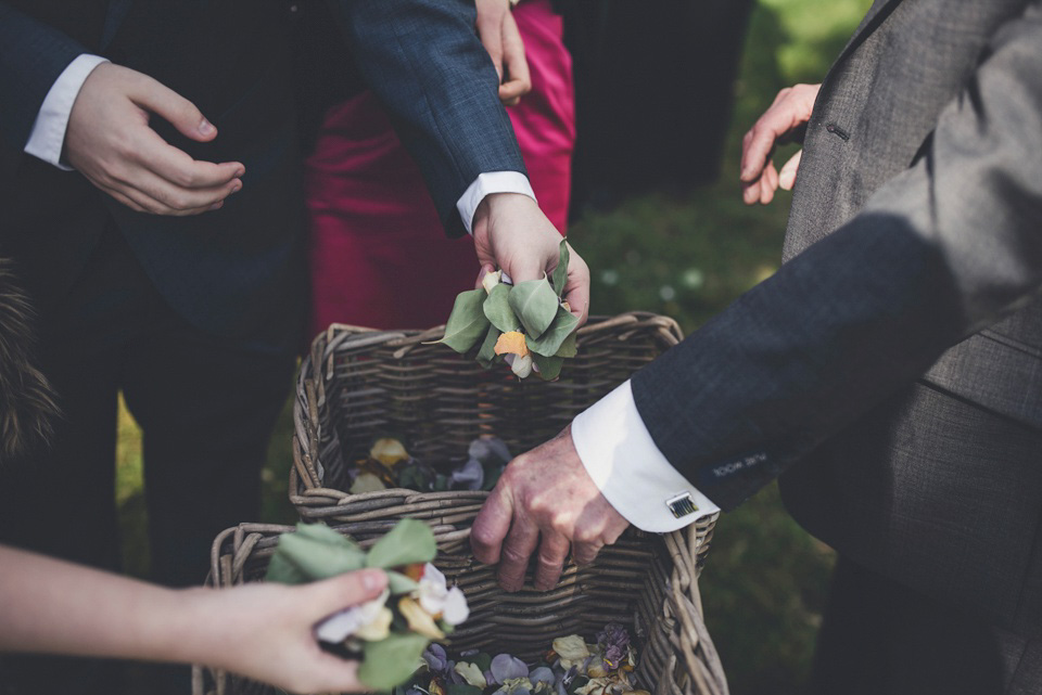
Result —
[{"label": "front wicker compartment of basket, nearest the bare arm", "polygon": [[[479,647],[535,660],[557,636],[587,640],[607,622],[630,629],[638,649],[635,675],[655,695],[726,695],[727,682],[702,622],[696,557],[715,519],[664,536],[627,531],[581,570],[569,567],[557,589],[504,594],[493,568],[469,555],[440,554],[435,564],[467,593],[471,617],[453,634],[449,649]],[[336,526],[363,545],[393,522]],[[292,527],[243,524],[217,537],[209,583],[231,587],[264,576],[278,536]],[[435,526],[444,538],[449,532]],[[232,674],[196,667],[193,695],[272,695],[275,688]]]}]

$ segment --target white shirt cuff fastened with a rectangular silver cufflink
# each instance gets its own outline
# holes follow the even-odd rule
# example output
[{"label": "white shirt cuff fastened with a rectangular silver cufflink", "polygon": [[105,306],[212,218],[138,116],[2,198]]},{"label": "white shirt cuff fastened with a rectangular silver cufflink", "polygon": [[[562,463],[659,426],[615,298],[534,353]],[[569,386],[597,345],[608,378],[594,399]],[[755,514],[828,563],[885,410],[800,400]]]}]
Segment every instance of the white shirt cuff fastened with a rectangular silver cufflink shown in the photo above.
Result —
[{"label": "white shirt cuff fastened with a rectangular silver cufflink", "polygon": [[600,493],[641,530],[675,531],[720,511],[659,451],[628,381],[572,421],[572,441]]}]

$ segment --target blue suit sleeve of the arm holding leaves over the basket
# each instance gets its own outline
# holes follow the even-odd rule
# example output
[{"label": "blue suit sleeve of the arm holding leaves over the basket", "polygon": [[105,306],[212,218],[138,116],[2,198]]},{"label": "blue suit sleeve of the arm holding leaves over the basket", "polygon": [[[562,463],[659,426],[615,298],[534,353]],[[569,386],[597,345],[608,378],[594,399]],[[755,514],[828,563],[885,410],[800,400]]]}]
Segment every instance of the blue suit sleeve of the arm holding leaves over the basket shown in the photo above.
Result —
[{"label": "blue suit sleeve of the arm holding leaves over the basket", "polygon": [[369,87],[419,164],[450,236],[478,175],[524,172],[498,78],[463,0],[332,0]]}]

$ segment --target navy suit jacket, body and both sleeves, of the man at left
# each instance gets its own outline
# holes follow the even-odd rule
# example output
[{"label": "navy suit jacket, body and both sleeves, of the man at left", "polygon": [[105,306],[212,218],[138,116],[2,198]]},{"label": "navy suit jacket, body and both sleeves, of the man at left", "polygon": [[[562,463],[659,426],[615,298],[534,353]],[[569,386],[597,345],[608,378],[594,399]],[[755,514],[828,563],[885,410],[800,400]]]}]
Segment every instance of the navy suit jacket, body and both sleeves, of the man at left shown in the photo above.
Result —
[{"label": "navy suit jacket, body and both sleeves, of the man at left", "polygon": [[[307,1],[307,0],[305,0]],[[483,171],[524,171],[492,62],[463,0],[331,0],[358,67],[420,165],[450,235],[456,201]],[[0,230],[43,305],[75,279],[107,220],[169,304],[218,335],[295,339],[304,311],[302,206],[283,0],[0,2]],[[137,214],[22,153],[56,77],[81,53],[105,55],[193,101],[219,130],[188,141],[196,158],[241,160],[243,190],[192,218]],[[343,56],[342,60],[350,60]]]}]

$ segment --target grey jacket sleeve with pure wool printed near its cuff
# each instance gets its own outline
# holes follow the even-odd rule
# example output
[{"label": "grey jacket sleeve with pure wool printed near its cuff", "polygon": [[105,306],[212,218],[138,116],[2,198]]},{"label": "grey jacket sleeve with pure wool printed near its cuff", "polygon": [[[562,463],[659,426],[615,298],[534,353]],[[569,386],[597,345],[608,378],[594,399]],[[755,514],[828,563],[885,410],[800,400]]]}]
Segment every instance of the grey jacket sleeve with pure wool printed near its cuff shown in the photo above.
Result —
[{"label": "grey jacket sleeve with pure wool printed near its cuff", "polygon": [[925,154],[633,379],[656,445],[730,509],[1042,285],[1042,7],[992,38]]}]

